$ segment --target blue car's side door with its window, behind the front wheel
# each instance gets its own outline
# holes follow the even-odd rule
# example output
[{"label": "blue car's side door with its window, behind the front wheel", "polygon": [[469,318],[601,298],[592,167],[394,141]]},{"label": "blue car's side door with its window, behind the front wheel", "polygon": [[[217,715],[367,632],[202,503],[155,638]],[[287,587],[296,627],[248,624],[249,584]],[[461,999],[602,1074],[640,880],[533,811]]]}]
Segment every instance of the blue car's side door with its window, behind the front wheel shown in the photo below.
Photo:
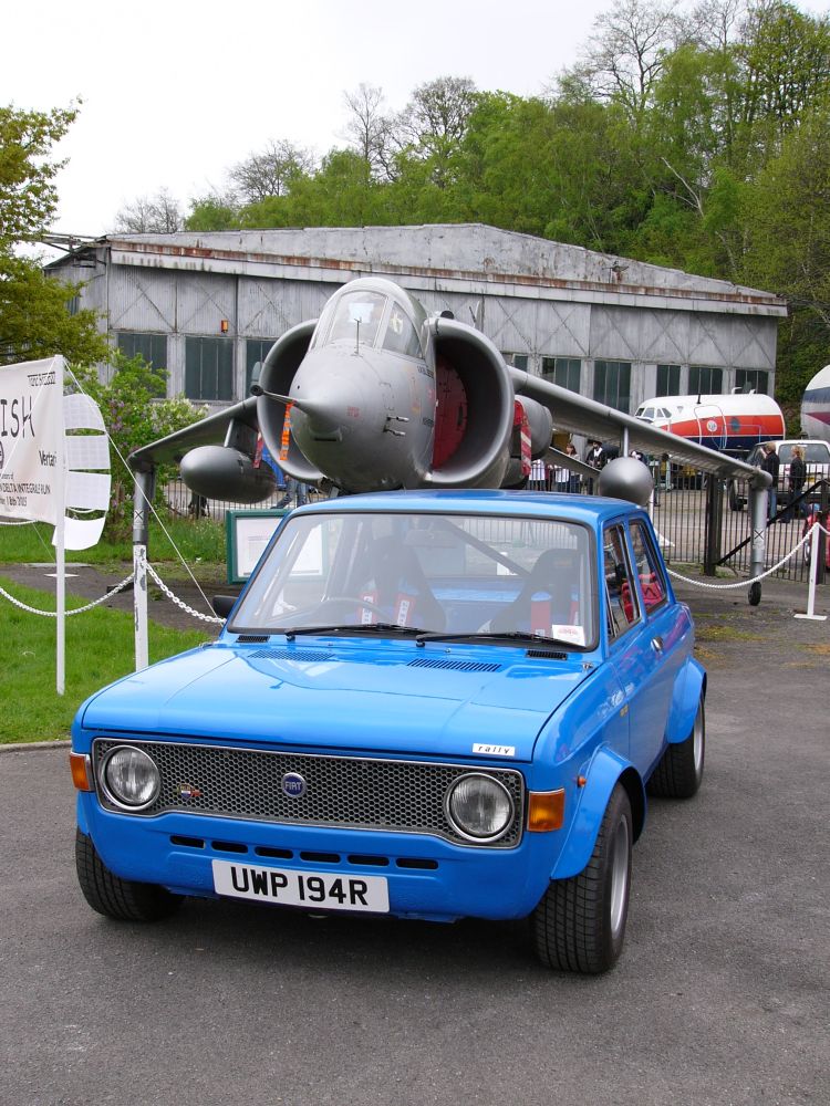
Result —
[{"label": "blue car's side door with its window, behind the front wheel", "polygon": [[[616,670],[629,708],[629,757],[647,774],[660,758],[677,671],[676,604],[668,602],[662,564],[643,561],[645,523],[633,523],[636,552],[623,521],[605,526],[603,534],[608,596],[609,657]],[[643,565],[643,576],[637,571]]]}]

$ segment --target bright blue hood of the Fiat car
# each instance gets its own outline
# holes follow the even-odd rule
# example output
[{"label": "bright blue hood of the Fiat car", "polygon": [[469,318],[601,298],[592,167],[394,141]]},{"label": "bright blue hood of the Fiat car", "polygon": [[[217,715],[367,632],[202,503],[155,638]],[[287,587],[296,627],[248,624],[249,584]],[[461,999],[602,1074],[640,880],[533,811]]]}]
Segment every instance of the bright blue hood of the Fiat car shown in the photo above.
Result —
[{"label": "bright blue hood of the Fiat car", "polygon": [[352,639],[193,650],[125,677],[82,708],[86,730],[222,743],[530,759],[547,719],[589,672],[523,649]]}]

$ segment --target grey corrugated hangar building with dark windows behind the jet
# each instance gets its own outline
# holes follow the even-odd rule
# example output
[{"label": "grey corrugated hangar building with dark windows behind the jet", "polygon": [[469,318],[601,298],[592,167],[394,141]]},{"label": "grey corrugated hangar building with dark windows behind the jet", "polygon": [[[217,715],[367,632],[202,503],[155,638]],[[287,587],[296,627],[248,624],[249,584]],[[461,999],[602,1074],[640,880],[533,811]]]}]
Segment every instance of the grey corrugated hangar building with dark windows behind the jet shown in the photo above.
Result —
[{"label": "grey corrugated hangar building with dark windows behind the jet", "polygon": [[480,225],[112,234],[46,272],[84,282],[112,343],[211,408],[249,394],[288,327],[383,275],[474,323],[513,365],[633,413],[656,395],[772,394],[768,292]]}]

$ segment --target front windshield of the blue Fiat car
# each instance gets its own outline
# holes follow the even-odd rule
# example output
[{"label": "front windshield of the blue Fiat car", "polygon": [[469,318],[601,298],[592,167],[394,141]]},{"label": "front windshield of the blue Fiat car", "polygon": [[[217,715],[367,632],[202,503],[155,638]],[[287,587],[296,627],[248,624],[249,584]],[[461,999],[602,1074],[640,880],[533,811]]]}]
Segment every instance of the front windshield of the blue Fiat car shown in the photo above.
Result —
[{"label": "front windshield of the blue Fiat car", "polygon": [[587,528],[539,519],[351,513],[290,518],[230,629],[320,627],[596,638]]}]

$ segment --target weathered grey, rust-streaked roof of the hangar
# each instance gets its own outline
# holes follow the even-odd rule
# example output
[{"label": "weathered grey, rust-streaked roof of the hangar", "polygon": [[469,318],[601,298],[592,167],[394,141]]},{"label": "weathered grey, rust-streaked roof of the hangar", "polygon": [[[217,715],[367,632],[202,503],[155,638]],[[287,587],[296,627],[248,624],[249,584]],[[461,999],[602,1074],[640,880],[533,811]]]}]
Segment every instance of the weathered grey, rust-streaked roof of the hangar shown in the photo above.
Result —
[{"label": "weathered grey, rust-streaked roof of the hangar", "polygon": [[[785,301],[771,292],[481,223],[110,234],[77,252],[102,247],[108,248],[115,263],[147,268],[338,283],[376,273],[408,276],[402,283],[413,289],[464,284],[491,294],[632,306],[646,296],[650,306],[787,313]],[[61,268],[66,260],[48,268]],[[661,298],[667,302],[655,302]]]}]

